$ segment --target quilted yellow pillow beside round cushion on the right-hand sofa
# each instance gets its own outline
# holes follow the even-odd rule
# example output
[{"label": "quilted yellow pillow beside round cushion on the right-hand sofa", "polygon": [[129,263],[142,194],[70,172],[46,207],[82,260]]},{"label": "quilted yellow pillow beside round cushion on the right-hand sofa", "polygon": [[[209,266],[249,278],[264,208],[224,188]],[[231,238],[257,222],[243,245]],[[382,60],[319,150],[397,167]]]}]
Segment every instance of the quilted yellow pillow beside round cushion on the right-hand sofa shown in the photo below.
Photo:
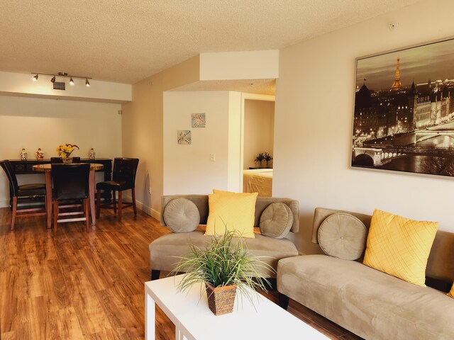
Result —
[{"label": "quilted yellow pillow beside round cushion on the right-hand sofa", "polygon": [[426,287],[426,266],[438,222],[415,221],[375,209],[364,256],[366,266]]}]

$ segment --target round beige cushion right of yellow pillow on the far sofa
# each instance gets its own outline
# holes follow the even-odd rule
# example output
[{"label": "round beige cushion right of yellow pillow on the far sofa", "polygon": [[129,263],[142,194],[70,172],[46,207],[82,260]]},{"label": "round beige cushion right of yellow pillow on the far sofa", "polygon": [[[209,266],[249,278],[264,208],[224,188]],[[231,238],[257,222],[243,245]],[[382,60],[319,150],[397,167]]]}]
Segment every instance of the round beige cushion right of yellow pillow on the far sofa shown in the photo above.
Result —
[{"label": "round beige cushion right of yellow pillow on the far sofa", "polygon": [[284,203],[271,203],[260,215],[260,233],[274,239],[282,239],[293,225],[293,214]]}]

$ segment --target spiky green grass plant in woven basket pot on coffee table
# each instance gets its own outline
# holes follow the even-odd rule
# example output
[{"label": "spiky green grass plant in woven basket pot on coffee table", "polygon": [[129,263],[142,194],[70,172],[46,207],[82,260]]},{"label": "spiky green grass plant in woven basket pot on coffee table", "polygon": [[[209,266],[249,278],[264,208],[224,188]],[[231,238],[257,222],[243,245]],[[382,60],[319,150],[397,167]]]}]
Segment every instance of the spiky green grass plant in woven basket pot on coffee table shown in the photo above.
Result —
[{"label": "spiky green grass plant in woven basket pot on coffee table", "polygon": [[206,249],[191,245],[190,254],[181,258],[173,274],[185,271],[177,289],[187,290],[194,283],[204,283],[208,305],[215,315],[233,311],[236,290],[253,303],[256,288],[265,290],[267,279],[258,272],[258,268],[272,267],[258,256],[251,256],[244,239],[236,232],[227,231],[222,237],[214,237]]}]

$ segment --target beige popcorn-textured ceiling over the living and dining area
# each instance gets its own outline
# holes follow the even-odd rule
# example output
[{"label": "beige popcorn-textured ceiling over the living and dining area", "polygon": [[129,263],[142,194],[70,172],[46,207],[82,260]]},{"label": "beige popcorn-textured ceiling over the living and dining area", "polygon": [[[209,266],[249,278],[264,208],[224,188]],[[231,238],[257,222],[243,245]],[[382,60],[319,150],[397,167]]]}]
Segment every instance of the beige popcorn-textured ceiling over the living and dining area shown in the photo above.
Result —
[{"label": "beige popcorn-textured ceiling over the living and dining area", "polygon": [[270,50],[419,0],[0,0],[0,71],[134,84],[200,52]]}]

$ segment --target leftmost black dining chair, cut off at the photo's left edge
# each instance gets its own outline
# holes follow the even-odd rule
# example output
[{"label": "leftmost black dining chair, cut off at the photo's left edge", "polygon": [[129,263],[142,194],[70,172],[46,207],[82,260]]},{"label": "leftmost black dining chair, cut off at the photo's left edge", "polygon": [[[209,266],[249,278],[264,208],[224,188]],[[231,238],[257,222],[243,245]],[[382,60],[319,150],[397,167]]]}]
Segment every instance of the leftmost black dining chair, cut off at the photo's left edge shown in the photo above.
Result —
[{"label": "leftmost black dining chair, cut off at the photo's left edge", "polygon": [[8,159],[0,161],[9,181],[9,191],[12,198],[11,230],[14,229],[16,217],[46,215],[45,184],[31,183],[18,185],[16,172]]}]

